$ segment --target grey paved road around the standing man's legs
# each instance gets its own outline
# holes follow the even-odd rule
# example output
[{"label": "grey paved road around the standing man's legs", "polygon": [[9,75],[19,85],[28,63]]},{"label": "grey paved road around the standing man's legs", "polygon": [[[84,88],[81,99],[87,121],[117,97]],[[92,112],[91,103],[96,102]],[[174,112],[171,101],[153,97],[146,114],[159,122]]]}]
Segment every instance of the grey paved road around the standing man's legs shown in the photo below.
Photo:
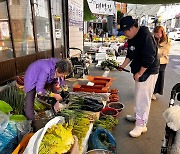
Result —
[{"label": "grey paved road around the standing man's legs", "polygon": [[[95,67],[90,68],[91,75],[102,75],[103,73]],[[157,100],[152,101],[148,131],[139,138],[129,137],[128,132],[133,129],[134,124],[124,119],[126,114],[133,113],[134,108],[132,75],[126,72],[111,71],[108,77],[116,79],[112,88],[119,89],[120,101],[125,104],[124,110],[118,116],[119,124],[113,130],[118,154],[159,154],[165,134],[165,121],[162,113],[168,108],[172,87],[180,82],[180,41],[172,41],[170,61],[165,74],[164,95],[157,96]]]}]

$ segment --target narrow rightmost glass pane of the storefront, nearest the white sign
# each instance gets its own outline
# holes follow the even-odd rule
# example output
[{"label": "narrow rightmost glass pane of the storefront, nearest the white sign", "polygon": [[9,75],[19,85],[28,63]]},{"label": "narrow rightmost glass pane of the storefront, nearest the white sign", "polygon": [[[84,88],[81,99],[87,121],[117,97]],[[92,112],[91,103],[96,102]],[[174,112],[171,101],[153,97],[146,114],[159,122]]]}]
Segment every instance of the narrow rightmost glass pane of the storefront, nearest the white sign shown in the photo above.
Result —
[{"label": "narrow rightmost glass pane of the storefront, nearest the white sign", "polygon": [[51,6],[54,46],[60,48],[63,45],[62,0],[51,0]]}]

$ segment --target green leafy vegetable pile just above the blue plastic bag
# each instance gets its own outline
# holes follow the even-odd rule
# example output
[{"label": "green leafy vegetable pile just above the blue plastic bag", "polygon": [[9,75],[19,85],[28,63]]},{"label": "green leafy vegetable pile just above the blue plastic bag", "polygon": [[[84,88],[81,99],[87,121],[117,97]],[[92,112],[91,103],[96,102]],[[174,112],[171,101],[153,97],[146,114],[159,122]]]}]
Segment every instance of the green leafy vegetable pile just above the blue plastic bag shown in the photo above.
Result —
[{"label": "green leafy vegetable pile just above the blue plastic bag", "polygon": [[107,129],[108,131],[112,131],[115,125],[118,124],[118,120],[111,115],[108,116],[101,116],[99,120],[95,121],[94,129],[98,127],[102,127]]}]

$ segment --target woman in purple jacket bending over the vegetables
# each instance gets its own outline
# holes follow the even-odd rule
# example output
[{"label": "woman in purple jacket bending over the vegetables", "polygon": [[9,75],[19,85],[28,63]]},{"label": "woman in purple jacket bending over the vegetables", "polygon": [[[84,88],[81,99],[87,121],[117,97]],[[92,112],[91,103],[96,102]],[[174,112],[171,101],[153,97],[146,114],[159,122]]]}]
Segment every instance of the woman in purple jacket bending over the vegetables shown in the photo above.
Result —
[{"label": "woman in purple jacket bending over the vegetables", "polygon": [[[41,59],[32,63],[26,70],[24,86],[26,92],[25,114],[27,119],[35,120],[34,99],[36,93],[44,95],[45,87],[50,85],[51,97],[61,101],[62,97],[57,93],[56,84],[66,75],[72,72],[69,60],[58,60],[57,58]],[[60,84],[60,83],[59,83]]]}]

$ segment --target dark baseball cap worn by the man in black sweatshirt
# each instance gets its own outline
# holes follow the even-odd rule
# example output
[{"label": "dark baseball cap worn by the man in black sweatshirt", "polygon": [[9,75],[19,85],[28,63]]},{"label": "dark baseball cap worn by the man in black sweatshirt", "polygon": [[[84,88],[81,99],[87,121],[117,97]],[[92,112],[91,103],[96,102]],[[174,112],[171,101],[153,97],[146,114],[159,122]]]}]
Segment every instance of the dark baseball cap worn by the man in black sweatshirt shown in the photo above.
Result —
[{"label": "dark baseball cap worn by the man in black sweatshirt", "polygon": [[132,18],[132,16],[126,16],[120,21],[120,30],[123,32],[129,30],[135,23],[136,21]]}]

